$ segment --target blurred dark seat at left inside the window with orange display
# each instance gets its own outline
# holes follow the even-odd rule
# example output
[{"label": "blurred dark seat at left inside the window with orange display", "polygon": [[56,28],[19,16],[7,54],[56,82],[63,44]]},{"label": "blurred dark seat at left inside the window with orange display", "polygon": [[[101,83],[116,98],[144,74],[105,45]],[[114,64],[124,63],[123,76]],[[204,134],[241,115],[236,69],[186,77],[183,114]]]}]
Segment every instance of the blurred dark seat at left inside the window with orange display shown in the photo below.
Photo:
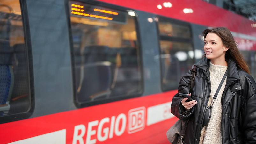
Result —
[{"label": "blurred dark seat at left inside the window with orange display", "polygon": [[77,94],[78,101],[107,98],[111,94],[111,62],[99,61],[86,63],[81,68],[82,82]]}]

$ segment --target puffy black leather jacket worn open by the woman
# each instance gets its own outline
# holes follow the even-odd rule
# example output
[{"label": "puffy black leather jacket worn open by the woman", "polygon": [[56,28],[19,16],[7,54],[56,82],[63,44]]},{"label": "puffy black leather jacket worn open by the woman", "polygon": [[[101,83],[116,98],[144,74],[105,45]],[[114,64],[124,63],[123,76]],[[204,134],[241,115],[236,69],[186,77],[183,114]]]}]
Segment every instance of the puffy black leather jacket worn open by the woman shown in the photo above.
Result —
[{"label": "puffy black leather jacket worn open by the woman", "polygon": [[[189,119],[185,144],[198,144],[202,119],[210,97],[209,59],[203,58],[196,66],[194,88],[191,88],[191,70],[179,83],[178,93],[191,93],[198,103],[184,110],[178,93],[172,99],[172,114],[181,120]],[[228,75],[222,94],[221,132],[223,144],[256,144],[256,83],[251,75],[237,68],[233,60],[228,61]]]}]

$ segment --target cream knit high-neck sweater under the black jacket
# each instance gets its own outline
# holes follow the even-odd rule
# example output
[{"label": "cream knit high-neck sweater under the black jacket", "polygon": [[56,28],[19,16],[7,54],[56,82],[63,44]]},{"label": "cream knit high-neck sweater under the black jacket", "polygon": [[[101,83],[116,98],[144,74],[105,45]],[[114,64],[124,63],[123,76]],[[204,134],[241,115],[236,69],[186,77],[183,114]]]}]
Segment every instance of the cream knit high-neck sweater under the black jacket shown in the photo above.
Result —
[{"label": "cream knit high-neck sweater under the black jacket", "polygon": [[[227,66],[214,65],[210,62],[210,79],[211,79],[211,94],[207,106],[213,101],[213,97],[219,87],[219,84],[227,70]],[[225,78],[221,89],[217,95],[216,100],[213,103],[211,109],[211,118],[208,125],[204,126],[201,131],[200,143],[199,144],[221,144],[221,96],[226,85],[227,77]]]}]

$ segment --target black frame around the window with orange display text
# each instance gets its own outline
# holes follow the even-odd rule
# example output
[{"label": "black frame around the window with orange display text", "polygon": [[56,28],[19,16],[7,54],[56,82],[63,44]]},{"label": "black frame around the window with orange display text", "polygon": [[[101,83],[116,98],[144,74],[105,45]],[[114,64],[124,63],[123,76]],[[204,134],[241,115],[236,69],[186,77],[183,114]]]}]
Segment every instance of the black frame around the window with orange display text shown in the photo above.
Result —
[{"label": "black frame around the window with orange display text", "polygon": [[[95,5],[95,6],[101,6],[101,7],[106,7],[118,11],[134,11],[136,14],[136,11],[133,9],[121,7],[118,5],[113,5],[113,4],[108,4],[104,2],[99,2],[99,1],[92,1],[92,0],[75,0],[78,2],[90,4],[90,5]],[[101,100],[94,100],[94,101],[85,101],[85,102],[79,102],[77,99],[77,92],[76,92],[76,76],[75,76],[75,55],[74,55],[74,45],[73,45],[73,37],[72,37],[72,28],[71,28],[71,21],[70,21],[70,12],[69,12],[69,0],[65,0],[65,8],[66,8],[66,16],[67,16],[67,23],[68,23],[68,33],[69,33],[69,44],[70,44],[70,54],[71,54],[71,67],[72,67],[72,83],[73,83],[73,102],[77,108],[83,108],[83,107],[89,107],[93,105],[99,105],[99,104],[105,104],[105,103],[110,103],[110,102],[115,102],[115,101],[120,101],[120,100],[125,100],[125,99],[130,99],[130,98],[135,98],[135,97],[140,97],[143,94],[144,91],[144,79],[143,79],[143,60],[142,60],[142,50],[141,50],[141,39],[140,39],[140,34],[139,34],[139,24],[138,24],[138,15],[135,15],[135,30],[136,30],[136,35],[137,35],[137,42],[138,42],[138,51],[139,54],[137,55],[139,58],[138,61],[138,67],[140,67],[140,77],[141,77],[141,90],[132,95],[122,95],[121,97],[115,96],[113,98],[108,98],[108,99],[101,99]]]}]

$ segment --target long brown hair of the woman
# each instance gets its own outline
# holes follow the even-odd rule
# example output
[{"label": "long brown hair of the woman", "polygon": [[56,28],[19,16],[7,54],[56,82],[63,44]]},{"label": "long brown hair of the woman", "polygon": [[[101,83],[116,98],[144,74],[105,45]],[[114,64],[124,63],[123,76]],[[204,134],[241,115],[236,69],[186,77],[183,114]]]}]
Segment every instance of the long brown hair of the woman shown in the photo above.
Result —
[{"label": "long brown hair of the woman", "polygon": [[[229,49],[225,53],[225,61],[228,62],[229,59],[232,59],[235,61],[237,67],[243,69],[245,72],[250,74],[249,67],[244,59],[244,56],[239,52],[237,48],[237,43],[234,40],[231,32],[229,29],[225,27],[217,27],[212,29],[206,29],[203,31],[204,39],[208,33],[215,33],[217,34],[225,47],[228,47]],[[206,54],[204,53],[203,57],[205,57]]]}]

